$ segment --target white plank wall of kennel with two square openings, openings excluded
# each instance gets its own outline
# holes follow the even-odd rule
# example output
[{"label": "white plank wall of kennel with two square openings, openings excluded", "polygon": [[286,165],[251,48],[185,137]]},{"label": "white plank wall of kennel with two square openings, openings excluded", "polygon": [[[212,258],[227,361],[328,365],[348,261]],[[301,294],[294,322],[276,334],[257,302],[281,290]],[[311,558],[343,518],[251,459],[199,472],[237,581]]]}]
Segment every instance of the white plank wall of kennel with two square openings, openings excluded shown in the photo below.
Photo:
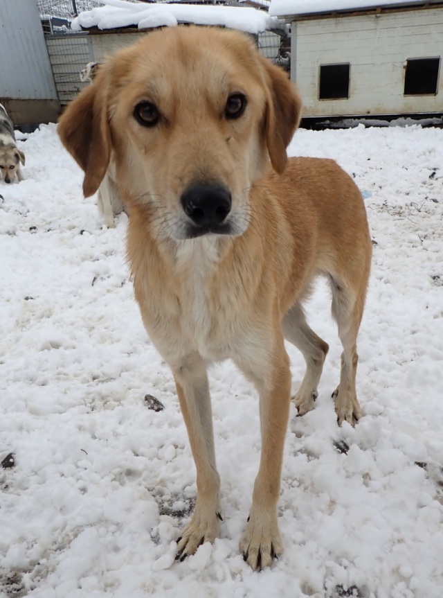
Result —
[{"label": "white plank wall of kennel with two square openings, openings excluded", "polygon": [[[404,96],[408,58],[440,56],[436,96]],[[319,100],[320,64],[350,62],[350,97]],[[303,116],[443,112],[443,8],[294,21],[291,79]]]}]

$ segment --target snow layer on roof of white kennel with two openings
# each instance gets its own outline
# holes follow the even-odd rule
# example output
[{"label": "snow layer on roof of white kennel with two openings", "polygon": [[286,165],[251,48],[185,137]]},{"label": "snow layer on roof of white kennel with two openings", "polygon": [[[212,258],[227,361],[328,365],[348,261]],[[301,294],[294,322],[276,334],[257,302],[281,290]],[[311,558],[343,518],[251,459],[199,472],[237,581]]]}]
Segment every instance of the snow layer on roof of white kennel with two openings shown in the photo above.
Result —
[{"label": "snow layer on roof of white kennel with two openings", "polygon": [[[426,0],[427,4],[442,0]],[[424,4],[420,0],[271,0],[269,14],[273,17],[319,15],[331,12],[357,12],[374,8],[395,8]]]}]

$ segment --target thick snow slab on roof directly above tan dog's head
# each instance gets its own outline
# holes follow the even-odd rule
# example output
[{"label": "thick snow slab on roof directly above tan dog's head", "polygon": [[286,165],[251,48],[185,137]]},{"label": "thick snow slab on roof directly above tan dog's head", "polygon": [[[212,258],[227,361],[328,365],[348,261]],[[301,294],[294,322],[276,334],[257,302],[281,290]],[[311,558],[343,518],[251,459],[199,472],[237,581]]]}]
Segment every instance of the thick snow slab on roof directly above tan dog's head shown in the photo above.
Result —
[{"label": "thick snow slab on roof directly above tan dog's head", "polygon": [[196,6],[192,4],[145,4],[124,0],[98,0],[107,6],[93,8],[73,20],[71,28],[98,27],[114,29],[136,26],[139,29],[168,26],[179,23],[221,25],[246,33],[262,33],[269,29],[285,30],[286,25],[269,17],[263,10],[233,6]]}]

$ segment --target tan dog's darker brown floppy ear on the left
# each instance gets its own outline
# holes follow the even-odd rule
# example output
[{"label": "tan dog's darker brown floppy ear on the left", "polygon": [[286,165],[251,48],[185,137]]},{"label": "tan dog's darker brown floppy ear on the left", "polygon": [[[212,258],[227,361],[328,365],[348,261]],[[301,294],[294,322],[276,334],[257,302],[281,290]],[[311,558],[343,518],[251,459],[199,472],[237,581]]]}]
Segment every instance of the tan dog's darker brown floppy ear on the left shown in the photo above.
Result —
[{"label": "tan dog's darker brown floppy ear on the left", "polygon": [[57,129],[63,145],[84,170],[84,197],[96,193],[111,156],[107,86],[105,73],[101,75],[69,104]]}]

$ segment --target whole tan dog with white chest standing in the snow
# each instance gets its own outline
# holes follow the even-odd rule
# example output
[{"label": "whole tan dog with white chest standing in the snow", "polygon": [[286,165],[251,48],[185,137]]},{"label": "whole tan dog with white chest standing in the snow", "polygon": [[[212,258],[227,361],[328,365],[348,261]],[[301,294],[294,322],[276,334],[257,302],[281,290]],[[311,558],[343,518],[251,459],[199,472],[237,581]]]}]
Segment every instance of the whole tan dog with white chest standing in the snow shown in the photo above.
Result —
[{"label": "whole tan dog with white chest standing in the snow", "polygon": [[356,337],[372,250],[365,208],[334,161],[287,164],[299,118],[287,76],[245,35],[179,27],[111,58],[60,121],[60,137],[85,173],[84,194],[97,190],[112,153],[129,205],[136,299],[174,374],[197,467],[181,559],[219,532],[206,370],[227,358],[260,395],[262,456],[240,548],[253,568],[282,552],[277,504],[291,392],[284,338],[307,362],[294,398],[305,414],[328,349],[302,308],[316,274],[331,285],[343,343],[338,422],[361,416]]}]

